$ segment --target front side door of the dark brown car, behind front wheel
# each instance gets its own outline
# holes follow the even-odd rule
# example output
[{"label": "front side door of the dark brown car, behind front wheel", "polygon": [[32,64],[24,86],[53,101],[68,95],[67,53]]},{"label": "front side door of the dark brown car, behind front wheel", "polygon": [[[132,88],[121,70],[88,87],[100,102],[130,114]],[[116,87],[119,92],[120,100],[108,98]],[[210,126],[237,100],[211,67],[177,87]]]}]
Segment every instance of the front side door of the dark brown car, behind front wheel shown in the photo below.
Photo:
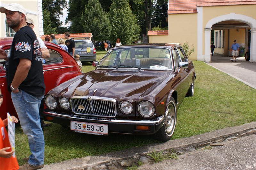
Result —
[{"label": "front side door of the dark brown car, behind front wheel", "polygon": [[176,47],[172,48],[172,56],[175,69],[175,74],[173,77],[175,84],[174,88],[178,94],[177,102],[180,104],[188,92],[188,72],[184,68],[179,68],[179,62],[181,62],[181,58]]}]

